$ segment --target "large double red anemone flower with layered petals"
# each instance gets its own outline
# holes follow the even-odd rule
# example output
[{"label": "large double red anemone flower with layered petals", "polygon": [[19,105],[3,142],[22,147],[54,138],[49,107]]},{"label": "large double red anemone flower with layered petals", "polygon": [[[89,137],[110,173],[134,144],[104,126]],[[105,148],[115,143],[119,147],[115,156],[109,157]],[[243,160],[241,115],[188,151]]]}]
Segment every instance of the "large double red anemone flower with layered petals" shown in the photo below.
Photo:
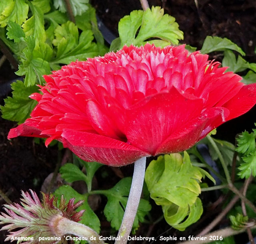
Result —
[{"label": "large double red anemone flower with layered petals", "polygon": [[120,166],[186,150],[256,103],[256,84],[184,45],[146,44],[74,62],[45,75],[16,136],[54,139],[86,161]]}]

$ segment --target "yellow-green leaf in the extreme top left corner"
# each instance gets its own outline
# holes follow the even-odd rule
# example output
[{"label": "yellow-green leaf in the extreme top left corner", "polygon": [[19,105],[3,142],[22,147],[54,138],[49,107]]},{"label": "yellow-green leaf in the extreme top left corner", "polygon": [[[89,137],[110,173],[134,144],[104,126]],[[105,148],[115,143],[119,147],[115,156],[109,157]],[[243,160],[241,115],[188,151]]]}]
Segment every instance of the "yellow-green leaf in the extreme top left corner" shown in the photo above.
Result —
[{"label": "yellow-green leaf in the extreme top left corner", "polygon": [[21,25],[28,18],[28,4],[25,0],[2,0],[0,10],[0,27],[5,27],[9,21]]}]

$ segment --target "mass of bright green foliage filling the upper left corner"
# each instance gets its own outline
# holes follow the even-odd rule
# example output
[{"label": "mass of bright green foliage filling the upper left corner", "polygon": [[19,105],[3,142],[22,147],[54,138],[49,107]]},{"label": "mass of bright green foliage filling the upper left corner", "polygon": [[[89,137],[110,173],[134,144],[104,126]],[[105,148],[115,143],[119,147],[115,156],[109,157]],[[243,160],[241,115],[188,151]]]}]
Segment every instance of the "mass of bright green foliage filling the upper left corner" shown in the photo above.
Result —
[{"label": "mass of bright green foliage filling the upper left corner", "polygon": [[[63,64],[108,51],[97,28],[95,10],[87,2],[72,1],[72,8],[78,15],[77,25],[70,22],[66,14],[51,9],[50,0],[14,0],[2,4],[0,39],[18,61],[16,74],[24,77],[23,83],[12,86],[13,97],[6,98],[5,105],[1,106],[3,118],[19,124],[28,118],[36,105],[28,95],[36,92],[36,84],[44,83],[42,75],[60,69]],[[63,4],[62,0],[54,1],[54,6],[60,10]],[[17,95],[22,89],[22,95]]]}]

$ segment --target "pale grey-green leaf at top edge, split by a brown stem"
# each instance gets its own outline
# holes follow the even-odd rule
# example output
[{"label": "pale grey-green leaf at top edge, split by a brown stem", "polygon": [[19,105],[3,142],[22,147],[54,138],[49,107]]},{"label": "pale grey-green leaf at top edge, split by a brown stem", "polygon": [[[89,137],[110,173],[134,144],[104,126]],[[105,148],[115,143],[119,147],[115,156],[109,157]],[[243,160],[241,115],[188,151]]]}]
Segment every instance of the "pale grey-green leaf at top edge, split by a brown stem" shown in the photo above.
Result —
[{"label": "pale grey-green leaf at top edge, split by a brown stem", "polygon": [[[66,13],[67,10],[65,0],[54,0],[53,2],[56,9],[59,9],[62,13]],[[70,5],[74,16],[81,15],[86,12],[86,10],[88,10],[88,2],[89,0],[70,0]]]}]

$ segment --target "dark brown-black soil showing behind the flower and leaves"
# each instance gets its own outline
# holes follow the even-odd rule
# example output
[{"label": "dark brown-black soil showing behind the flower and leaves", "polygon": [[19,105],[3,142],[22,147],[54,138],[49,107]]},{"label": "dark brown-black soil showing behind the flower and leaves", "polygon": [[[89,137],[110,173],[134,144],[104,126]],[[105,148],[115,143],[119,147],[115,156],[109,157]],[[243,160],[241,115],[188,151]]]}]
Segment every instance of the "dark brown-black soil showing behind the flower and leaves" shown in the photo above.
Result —
[{"label": "dark brown-black soil showing behind the flower and leaves", "polygon": [[[184,32],[184,40],[181,43],[187,43],[200,49],[207,35],[227,37],[246,52],[245,59],[247,61],[256,63],[254,53],[256,46],[255,0],[149,0],[148,2],[150,6],[162,6],[165,13],[176,18],[180,30]],[[198,2],[198,6],[196,6],[196,2]],[[132,10],[141,9],[139,0],[92,0],[91,3],[96,8],[98,18],[116,36],[118,35],[118,21],[120,18],[130,14]],[[221,60],[222,57],[219,53],[211,53],[210,58]],[[0,102],[3,105],[3,99],[10,93],[8,89],[3,90],[1,85],[15,79],[8,61],[1,67],[0,74],[0,89],[2,89],[0,91]],[[237,133],[254,127],[254,122],[256,122],[255,112],[256,108],[254,107],[244,116],[220,126],[217,130],[218,138],[234,143],[234,137]],[[14,202],[18,201],[20,190],[33,189],[39,192],[44,179],[54,171],[57,161],[61,160],[64,154],[63,150],[60,154],[56,146],[47,149],[43,144],[35,144],[33,138],[7,140],[8,131],[15,126],[15,122],[0,118],[0,189]],[[106,167],[104,167],[104,170],[106,170]],[[132,174],[132,166],[107,170],[112,180],[106,185],[106,180],[98,177],[97,184],[99,187],[108,187],[108,185],[112,187],[111,183],[117,182],[122,175]],[[204,196],[203,201],[205,203],[209,201],[208,197],[207,195]],[[0,198],[0,205],[4,203],[4,200]],[[104,205],[105,202],[102,199],[97,210],[100,215],[102,215]],[[159,209],[155,212],[156,216],[158,211]],[[201,221],[187,230],[186,234],[195,235],[196,230],[200,230],[204,225],[205,222]],[[110,231],[109,224],[102,221],[102,226],[106,228],[108,235]],[[169,228],[170,226],[165,224],[164,221],[160,221],[157,226],[142,226],[139,228],[137,235],[146,236],[150,230],[149,235],[156,237]],[[184,234],[180,234],[176,230],[168,230],[165,233],[166,236],[184,236]],[[0,243],[4,242],[5,235],[5,232],[0,232]],[[242,241],[241,239],[237,240],[237,243],[246,243],[246,238],[245,236]]]}]

